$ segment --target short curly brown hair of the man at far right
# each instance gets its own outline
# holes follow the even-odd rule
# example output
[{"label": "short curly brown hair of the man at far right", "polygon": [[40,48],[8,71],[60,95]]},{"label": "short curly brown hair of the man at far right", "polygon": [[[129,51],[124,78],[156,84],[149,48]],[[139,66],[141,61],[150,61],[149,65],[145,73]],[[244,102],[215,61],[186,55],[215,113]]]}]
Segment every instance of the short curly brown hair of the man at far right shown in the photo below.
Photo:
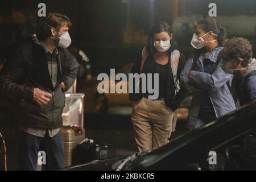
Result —
[{"label": "short curly brown hair of the man at far right", "polygon": [[[231,38],[224,42],[224,57],[230,60],[241,57],[243,59],[242,66],[247,67],[253,56],[253,47],[249,40],[245,38]],[[230,61],[227,60],[227,61]]]}]

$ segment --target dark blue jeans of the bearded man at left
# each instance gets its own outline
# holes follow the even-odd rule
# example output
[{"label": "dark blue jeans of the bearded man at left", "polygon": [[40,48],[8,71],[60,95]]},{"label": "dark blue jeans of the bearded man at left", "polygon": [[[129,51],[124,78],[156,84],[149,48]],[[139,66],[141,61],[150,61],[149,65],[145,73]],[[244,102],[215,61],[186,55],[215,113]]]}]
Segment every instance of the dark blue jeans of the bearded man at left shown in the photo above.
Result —
[{"label": "dark blue jeans of the bearded man at left", "polygon": [[46,153],[45,170],[56,170],[64,167],[63,137],[60,132],[49,137],[48,131],[44,137],[36,137],[19,130],[19,169],[35,171],[38,162],[38,152]]}]

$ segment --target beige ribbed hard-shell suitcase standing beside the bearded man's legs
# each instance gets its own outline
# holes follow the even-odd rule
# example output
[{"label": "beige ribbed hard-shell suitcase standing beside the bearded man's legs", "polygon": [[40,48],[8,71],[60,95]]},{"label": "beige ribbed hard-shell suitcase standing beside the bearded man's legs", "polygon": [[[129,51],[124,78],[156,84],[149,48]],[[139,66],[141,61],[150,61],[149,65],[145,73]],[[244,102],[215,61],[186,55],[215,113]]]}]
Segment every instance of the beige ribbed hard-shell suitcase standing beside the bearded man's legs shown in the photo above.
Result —
[{"label": "beige ribbed hard-shell suitcase standing beside the bearded man's legs", "polygon": [[64,143],[64,167],[72,164],[72,151],[85,138],[85,130],[83,127],[64,126],[62,128]]}]

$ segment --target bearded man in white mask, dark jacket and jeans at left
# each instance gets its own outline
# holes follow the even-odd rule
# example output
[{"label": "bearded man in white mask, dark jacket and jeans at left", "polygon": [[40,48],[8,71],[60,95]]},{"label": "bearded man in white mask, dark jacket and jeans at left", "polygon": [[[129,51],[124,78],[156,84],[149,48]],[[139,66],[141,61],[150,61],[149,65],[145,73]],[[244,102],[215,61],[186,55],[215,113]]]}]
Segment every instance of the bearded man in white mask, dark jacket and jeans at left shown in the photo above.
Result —
[{"label": "bearded man in white mask, dark jacket and jeans at left", "polygon": [[[3,68],[1,91],[18,101],[19,168],[36,170],[38,152],[46,170],[64,167],[61,134],[65,93],[76,79],[79,64],[66,49],[71,22],[62,14],[48,14],[39,39],[20,47]],[[45,154],[45,155],[44,155]],[[46,157],[46,160],[44,160]]]}]

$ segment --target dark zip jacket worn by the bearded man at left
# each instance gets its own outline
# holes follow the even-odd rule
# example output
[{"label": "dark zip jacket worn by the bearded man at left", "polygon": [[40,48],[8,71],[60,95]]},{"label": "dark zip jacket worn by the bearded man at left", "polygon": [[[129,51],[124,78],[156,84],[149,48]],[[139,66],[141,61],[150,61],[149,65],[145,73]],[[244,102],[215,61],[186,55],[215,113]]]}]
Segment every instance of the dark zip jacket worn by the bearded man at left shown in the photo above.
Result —
[{"label": "dark zip jacket worn by the bearded man at left", "polygon": [[[67,90],[73,85],[79,64],[67,49],[58,50],[58,77],[54,88],[46,52],[36,39],[20,47],[3,68],[0,90],[16,103],[13,106],[19,126],[51,129],[63,125],[65,94],[60,84],[64,82]],[[34,88],[52,94],[48,104],[38,105],[32,101]]]}]

